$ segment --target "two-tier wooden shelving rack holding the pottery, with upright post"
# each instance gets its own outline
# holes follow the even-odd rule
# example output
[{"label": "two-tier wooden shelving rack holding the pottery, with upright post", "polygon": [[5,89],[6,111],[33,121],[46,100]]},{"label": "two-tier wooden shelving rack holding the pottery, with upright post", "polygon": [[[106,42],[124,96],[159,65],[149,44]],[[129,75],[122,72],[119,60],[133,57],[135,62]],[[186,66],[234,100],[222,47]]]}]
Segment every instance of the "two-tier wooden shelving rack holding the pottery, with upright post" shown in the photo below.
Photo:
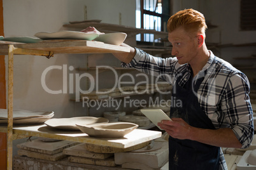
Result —
[{"label": "two-tier wooden shelving rack holding the pottery, with upright post", "polygon": [[158,131],[147,131],[135,129],[124,138],[101,139],[91,138],[85,133],[70,133],[54,131],[46,127],[39,126],[13,126],[13,55],[36,55],[52,57],[55,54],[82,54],[82,53],[128,53],[129,48],[104,44],[97,41],[84,40],[48,40],[38,43],[23,44],[14,42],[0,42],[0,55],[8,55],[8,125],[0,126],[0,132],[7,133],[7,169],[12,169],[12,147],[13,140],[27,138],[29,136],[41,136],[55,138],[59,140],[78,141],[82,143],[92,143],[110,147],[127,148],[138,145],[145,141],[159,138]]}]

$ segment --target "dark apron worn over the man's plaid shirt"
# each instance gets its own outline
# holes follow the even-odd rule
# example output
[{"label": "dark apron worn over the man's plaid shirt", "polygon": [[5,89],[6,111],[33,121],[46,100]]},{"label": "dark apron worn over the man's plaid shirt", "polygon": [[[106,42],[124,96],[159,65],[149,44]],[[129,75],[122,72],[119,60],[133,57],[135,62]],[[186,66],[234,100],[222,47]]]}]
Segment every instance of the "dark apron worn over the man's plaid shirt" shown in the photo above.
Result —
[{"label": "dark apron worn over the man's plaid shirt", "polygon": [[[209,117],[203,112],[199,105],[197,92],[204,77],[192,82],[193,75],[183,87],[178,85],[182,76],[176,81],[176,93],[173,93],[173,100],[182,102],[180,105],[172,105],[170,117],[180,117],[190,126],[203,129],[215,129]],[[194,84],[194,88],[192,87]],[[173,89],[175,89],[173,88]],[[174,92],[174,91],[173,91]],[[219,169],[220,148],[206,145],[192,140],[178,140],[169,137],[169,169]]]}]

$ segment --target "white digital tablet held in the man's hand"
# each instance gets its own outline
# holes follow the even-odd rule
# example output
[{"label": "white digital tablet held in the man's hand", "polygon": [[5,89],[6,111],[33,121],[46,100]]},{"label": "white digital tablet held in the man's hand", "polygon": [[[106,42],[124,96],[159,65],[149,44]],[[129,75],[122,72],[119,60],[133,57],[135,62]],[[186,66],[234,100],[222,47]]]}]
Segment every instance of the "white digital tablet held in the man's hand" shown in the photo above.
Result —
[{"label": "white digital tablet held in the man's hand", "polygon": [[171,121],[171,118],[166,115],[166,113],[164,113],[164,111],[162,111],[161,109],[148,109],[148,108],[143,108],[141,109],[141,112],[148,117],[148,119],[150,119],[150,121],[153,122],[153,124],[155,124],[155,126],[157,126],[159,129],[161,129],[157,123],[161,122],[163,120],[169,120]]}]

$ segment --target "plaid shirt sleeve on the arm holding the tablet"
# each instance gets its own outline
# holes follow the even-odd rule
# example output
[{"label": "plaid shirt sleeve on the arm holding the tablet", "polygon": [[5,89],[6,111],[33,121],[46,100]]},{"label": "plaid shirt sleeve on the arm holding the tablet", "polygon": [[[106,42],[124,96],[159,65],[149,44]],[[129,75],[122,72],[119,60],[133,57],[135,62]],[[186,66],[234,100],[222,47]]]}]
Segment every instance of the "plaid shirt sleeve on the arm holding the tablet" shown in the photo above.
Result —
[{"label": "plaid shirt sleeve on the arm holding the tablet", "polygon": [[225,119],[242,144],[241,148],[247,148],[252,143],[253,111],[250,103],[250,83],[245,74],[232,75],[227,83],[222,110]]}]

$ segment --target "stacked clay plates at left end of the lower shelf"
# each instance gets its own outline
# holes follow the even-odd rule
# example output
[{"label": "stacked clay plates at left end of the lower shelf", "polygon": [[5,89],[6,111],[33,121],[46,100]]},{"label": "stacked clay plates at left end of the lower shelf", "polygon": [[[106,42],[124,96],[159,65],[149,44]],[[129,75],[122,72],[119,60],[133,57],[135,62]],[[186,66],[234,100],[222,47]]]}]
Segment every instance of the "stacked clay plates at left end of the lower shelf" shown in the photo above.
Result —
[{"label": "stacked clay plates at left end of the lower shelf", "polygon": [[[54,112],[13,110],[13,124],[42,124],[51,119]],[[8,110],[0,109],[0,124],[8,122]]]}]

